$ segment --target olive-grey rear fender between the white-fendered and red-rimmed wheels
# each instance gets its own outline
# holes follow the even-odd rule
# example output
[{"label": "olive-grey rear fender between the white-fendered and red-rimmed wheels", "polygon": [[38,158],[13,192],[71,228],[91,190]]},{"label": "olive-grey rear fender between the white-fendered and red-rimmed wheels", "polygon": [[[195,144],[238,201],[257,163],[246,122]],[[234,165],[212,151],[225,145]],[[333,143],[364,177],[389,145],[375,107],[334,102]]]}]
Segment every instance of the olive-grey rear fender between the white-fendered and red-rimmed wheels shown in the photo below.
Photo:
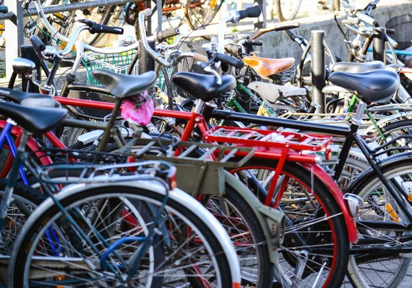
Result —
[{"label": "olive-grey rear fender between the white-fendered and red-rimmed wheels", "polygon": [[[251,190],[249,190],[247,186],[244,186],[244,184],[242,184],[242,182],[238,178],[231,175],[231,173],[227,172],[226,170],[225,183],[236,190],[239,195],[243,197],[243,199],[247,201],[247,203],[250,204],[253,212],[255,212],[256,217],[258,217],[260,225],[262,226],[264,236],[268,240],[268,254],[271,259],[271,263],[279,263],[279,258],[277,255],[277,248],[279,247],[279,244],[277,244],[277,232],[273,234],[271,228],[269,228],[269,225],[271,225],[271,223],[275,224],[277,223],[277,221],[282,221],[280,219],[279,213],[277,213],[280,211],[272,209],[272,211],[268,212],[268,210],[261,208],[264,205],[259,201],[258,197],[255,197],[255,195],[253,195],[253,192],[251,192]],[[277,212],[273,212],[273,210]],[[273,215],[269,216],[268,213],[273,213]]]}]

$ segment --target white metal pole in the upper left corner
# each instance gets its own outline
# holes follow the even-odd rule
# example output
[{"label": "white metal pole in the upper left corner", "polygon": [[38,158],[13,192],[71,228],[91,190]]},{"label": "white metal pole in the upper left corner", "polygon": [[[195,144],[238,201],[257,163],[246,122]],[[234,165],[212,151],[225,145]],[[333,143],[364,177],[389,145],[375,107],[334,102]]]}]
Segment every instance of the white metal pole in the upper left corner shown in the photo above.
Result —
[{"label": "white metal pole in the upper left corner", "polygon": [[20,47],[24,41],[23,8],[21,8],[21,2],[16,0],[5,0],[4,5],[8,7],[10,12],[14,13],[12,19],[5,21],[4,32],[4,37],[7,39],[5,45],[5,76],[10,79],[13,74],[12,62],[14,58],[20,56]]}]

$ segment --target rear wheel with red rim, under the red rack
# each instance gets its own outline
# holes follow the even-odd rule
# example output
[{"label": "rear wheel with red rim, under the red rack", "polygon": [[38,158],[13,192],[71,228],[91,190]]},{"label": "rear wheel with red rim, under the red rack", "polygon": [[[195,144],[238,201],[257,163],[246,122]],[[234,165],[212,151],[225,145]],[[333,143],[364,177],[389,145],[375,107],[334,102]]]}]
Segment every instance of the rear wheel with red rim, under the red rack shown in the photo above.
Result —
[{"label": "rear wheel with red rim, under the red rack", "polygon": [[[265,181],[270,181],[276,167],[273,160],[251,159],[231,172],[240,174],[244,183],[264,201]],[[266,177],[256,183],[257,178],[251,175]],[[287,162],[279,179],[276,192],[283,187],[284,197],[278,208],[287,217],[285,241],[279,249],[279,273],[289,286],[339,287],[345,277],[349,250],[341,209],[321,179],[298,164]],[[299,269],[298,264],[304,269]]]}]

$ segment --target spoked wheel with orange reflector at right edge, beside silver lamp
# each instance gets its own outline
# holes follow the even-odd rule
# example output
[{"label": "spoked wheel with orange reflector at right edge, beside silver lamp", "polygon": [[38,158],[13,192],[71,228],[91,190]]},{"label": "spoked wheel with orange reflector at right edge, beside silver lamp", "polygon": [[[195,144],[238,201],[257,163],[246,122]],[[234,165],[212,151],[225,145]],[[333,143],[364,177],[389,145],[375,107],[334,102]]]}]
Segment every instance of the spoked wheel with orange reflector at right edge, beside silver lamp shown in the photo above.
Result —
[{"label": "spoked wheel with orange reflector at right edge, beside silver lamp", "polygon": [[[412,184],[412,161],[403,159],[393,162],[382,173],[389,181],[397,181],[404,189]],[[410,241],[403,241],[404,237],[410,237],[411,230],[407,229],[409,220],[400,210],[399,204],[383,187],[376,173],[365,175],[360,184],[354,187],[352,193],[363,199],[363,208],[358,217],[358,236],[360,242],[354,245],[359,247],[382,247],[382,251],[390,247],[411,247]],[[405,200],[405,203],[407,201]],[[398,229],[388,230],[378,228],[378,225],[359,224],[359,221],[379,221],[389,223],[404,223]],[[375,244],[362,245],[361,241],[374,240]],[[379,244],[380,243],[380,244]],[[380,258],[379,258],[380,257]],[[375,252],[373,254],[350,255],[347,277],[354,287],[402,287],[401,283],[411,264],[410,258],[403,258],[400,253],[387,254]],[[410,278],[405,281],[410,281]]]}]

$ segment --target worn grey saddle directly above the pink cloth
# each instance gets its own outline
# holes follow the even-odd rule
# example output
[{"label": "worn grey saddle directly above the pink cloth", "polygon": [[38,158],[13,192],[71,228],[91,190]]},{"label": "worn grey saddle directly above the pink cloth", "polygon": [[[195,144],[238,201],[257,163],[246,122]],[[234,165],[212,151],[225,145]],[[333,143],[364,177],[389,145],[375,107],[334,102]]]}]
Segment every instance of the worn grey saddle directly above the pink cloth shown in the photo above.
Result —
[{"label": "worn grey saddle directly above the pink cloth", "polygon": [[132,76],[118,74],[104,69],[92,71],[91,76],[102,83],[102,85],[117,98],[135,96],[153,87],[157,78],[154,71]]}]

